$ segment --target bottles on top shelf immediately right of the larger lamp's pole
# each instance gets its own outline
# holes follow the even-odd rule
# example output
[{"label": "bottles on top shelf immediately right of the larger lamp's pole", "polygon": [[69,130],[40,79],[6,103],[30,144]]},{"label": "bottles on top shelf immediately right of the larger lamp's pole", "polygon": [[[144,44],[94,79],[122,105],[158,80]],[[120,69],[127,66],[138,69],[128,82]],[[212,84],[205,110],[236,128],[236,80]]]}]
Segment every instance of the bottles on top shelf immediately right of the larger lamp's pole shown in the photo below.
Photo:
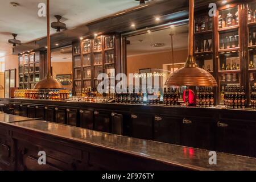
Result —
[{"label": "bottles on top shelf immediately right of the larger lamp's pole", "polygon": [[201,19],[196,19],[195,32],[203,32],[207,30],[212,30],[212,18],[203,16]]}]

